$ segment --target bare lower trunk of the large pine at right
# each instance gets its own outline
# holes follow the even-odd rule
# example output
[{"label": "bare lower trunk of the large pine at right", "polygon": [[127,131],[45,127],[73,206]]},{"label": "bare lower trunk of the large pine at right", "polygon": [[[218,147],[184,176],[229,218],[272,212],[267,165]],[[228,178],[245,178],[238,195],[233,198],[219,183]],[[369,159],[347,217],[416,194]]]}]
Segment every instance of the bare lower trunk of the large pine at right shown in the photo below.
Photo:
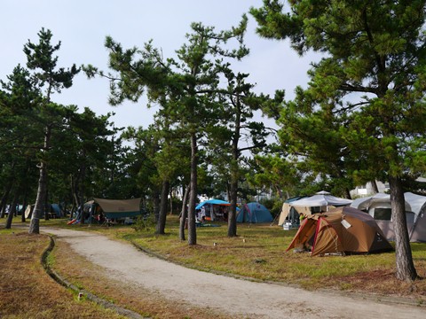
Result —
[{"label": "bare lower trunk of the large pine at right", "polygon": [[406,206],[401,179],[390,176],[389,184],[393,230],[395,232],[396,276],[399,280],[413,281],[417,278],[417,272],[414,268],[410,240],[406,228]]}]

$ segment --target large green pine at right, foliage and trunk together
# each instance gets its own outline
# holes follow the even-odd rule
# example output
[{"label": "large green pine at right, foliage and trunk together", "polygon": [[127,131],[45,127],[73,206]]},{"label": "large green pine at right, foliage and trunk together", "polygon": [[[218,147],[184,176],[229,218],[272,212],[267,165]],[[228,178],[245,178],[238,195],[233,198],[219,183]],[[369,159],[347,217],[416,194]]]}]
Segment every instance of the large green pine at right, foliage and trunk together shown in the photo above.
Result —
[{"label": "large green pine at right, foliage and trunk together", "polygon": [[426,159],[425,3],[305,0],[290,7],[284,12],[279,1],[265,0],[251,10],[259,35],[288,38],[299,54],[324,54],[312,65],[308,89],[298,88],[282,111],[280,121],[289,126],[281,136],[295,138],[292,146],[311,162],[336,165],[335,172],[359,180],[390,182],[397,276],[412,280],[402,182]]}]

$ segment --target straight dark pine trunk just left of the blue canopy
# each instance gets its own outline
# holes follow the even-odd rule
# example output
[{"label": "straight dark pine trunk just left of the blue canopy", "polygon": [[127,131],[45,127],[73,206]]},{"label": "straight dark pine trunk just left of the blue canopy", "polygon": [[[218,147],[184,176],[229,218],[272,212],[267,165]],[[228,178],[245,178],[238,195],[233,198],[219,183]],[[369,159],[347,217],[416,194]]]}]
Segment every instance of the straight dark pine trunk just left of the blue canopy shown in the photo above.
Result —
[{"label": "straight dark pine trunk just left of the blue canopy", "polygon": [[197,137],[191,133],[191,195],[189,197],[188,210],[188,244],[197,245],[197,233],[195,230],[195,203],[197,201]]}]

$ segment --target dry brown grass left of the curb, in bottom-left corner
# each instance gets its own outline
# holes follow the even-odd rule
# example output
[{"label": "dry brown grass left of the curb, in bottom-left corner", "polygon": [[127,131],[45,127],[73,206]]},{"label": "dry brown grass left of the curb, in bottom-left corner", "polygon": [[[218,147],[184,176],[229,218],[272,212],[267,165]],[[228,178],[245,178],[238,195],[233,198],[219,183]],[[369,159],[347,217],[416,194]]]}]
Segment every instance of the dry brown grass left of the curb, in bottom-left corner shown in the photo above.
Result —
[{"label": "dry brown grass left of the curb, in bottom-left corner", "polygon": [[75,294],[46,274],[41,256],[50,239],[0,230],[1,318],[122,318]]}]

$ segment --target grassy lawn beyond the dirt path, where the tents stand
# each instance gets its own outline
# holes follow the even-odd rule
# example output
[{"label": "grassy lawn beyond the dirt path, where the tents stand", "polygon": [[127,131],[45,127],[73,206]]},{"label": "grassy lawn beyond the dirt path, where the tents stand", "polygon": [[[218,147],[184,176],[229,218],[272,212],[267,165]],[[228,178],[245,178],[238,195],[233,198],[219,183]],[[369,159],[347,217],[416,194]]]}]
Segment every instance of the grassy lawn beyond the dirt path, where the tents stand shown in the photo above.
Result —
[{"label": "grassy lawn beyond the dirt path, where the tents stand", "polygon": [[[99,231],[138,245],[147,252],[189,268],[248,277],[252,280],[295,284],[309,290],[322,288],[346,292],[376,293],[410,297],[426,302],[426,243],[412,243],[414,266],[420,280],[402,283],[395,279],[395,253],[311,257],[309,253],[286,252],[296,230],[283,230],[276,224],[239,223],[238,237],[227,237],[227,224],[198,227],[197,245],[178,239],[178,218],[169,215],[166,235],[155,236],[154,227],[136,231],[132,226],[66,226],[73,230]],[[216,243],[216,244],[215,244]],[[393,243],[391,243],[393,245]]]}]

